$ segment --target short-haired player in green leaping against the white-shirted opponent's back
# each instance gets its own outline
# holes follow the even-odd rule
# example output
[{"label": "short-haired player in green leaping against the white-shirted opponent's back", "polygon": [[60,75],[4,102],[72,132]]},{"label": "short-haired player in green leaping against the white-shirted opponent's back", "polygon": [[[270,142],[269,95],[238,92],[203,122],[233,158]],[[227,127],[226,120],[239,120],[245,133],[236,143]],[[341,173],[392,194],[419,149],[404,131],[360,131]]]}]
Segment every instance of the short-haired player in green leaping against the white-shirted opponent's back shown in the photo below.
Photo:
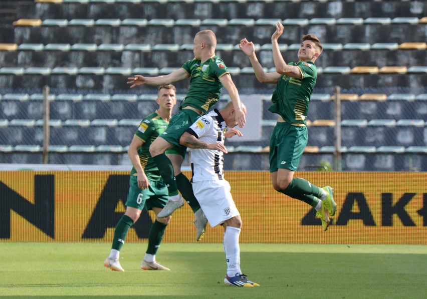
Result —
[{"label": "short-haired player in green leaping against the white-shirted opponent's back", "polygon": [[180,69],[165,76],[136,75],[128,78],[127,82],[131,85],[130,88],[133,88],[143,84],[171,84],[191,78],[187,95],[179,107],[179,113],[170,119],[166,131],[151,144],[150,153],[169,190],[169,200],[158,216],[168,216],[183,205],[182,197],[178,194],[179,189],[194,212],[197,240],[204,233],[206,220],[194,197],[191,183],[181,173],[181,164],[187,148],[179,144],[179,138],[198,117],[208,112],[219,101],[223,86],[229,92],[233,102],[239,127],[242,128],[246,121],[239,93],[231,75],[224,62],[215,55],[216,46],[215,33],[210,30],[200,31],[194,37],[194,59],[184,63]]}]

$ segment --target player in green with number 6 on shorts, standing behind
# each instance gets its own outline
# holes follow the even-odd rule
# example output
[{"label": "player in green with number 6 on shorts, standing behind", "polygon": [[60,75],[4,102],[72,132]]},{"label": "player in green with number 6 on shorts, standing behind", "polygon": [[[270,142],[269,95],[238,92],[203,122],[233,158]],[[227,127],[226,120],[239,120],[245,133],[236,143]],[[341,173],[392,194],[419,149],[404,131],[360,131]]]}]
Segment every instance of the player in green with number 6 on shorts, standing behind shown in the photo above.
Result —
[{"label": "player in green with number 6 on shorts, standing behind", "polygon": [[111,252],[104,261],[104,265],[114,271],[124,271],[119,261],[120,249],[125,242],[129,228],[139,219],[144,207],[146,210],[153,210],[156,219],[148,234],[147,251],[141,262],[141,268],[144,270],[169,270],[155,259],[171,216],[158,217],[158,213],[167,202],[168,192],[159,170],[151,158],[149,147],[169,124],[173,106],[176,104],[175,92],[173,85],[159,87],[156,100],[159,108],[141,121],[129,145],[128,155],[133,167],[130,173],[126,212],[116,225]]}]

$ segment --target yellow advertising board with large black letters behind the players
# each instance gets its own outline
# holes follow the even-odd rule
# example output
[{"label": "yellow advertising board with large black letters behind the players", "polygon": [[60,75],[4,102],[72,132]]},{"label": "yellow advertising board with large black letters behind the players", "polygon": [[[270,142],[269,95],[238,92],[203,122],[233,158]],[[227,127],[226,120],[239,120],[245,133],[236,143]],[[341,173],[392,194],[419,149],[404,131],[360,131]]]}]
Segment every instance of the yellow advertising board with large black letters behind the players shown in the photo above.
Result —
[{"label": "yellow advertising board with large black letters behind the players", "polygon": [[[185,173],[189,175],[189,173]],[[427,244],[427,173],[297,172],[334,188],[337,213],[324,232],[306,203],[273,190],[263,171],[226,172],[243,220],[242,243]],[[123,215],[129,172],[0,171],[0,241],[110,242]],[[126,238],[146,242],[151,212]],[[185,204],[163,241],[195,242]],[[221,243],[223,228],[207,226],[202,242]]]}]

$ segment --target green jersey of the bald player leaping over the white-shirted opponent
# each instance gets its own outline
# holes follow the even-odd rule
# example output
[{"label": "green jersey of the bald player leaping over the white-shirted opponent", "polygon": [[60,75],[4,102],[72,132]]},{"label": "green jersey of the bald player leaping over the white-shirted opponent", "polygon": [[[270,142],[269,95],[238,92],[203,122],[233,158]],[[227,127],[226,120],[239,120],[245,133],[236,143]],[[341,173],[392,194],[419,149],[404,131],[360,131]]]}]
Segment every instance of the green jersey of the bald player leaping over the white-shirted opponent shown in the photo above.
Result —
[{"label": "green jersey of the bald player leaping over the white-shirted opponent", "polygon": [[223,84],[220,78],[230,74],[223,60],[212,56],[205,62],[189,60],[182,69],[191,77],[190,88],[179,108],[190,106],[206,113],[221,97]]}]

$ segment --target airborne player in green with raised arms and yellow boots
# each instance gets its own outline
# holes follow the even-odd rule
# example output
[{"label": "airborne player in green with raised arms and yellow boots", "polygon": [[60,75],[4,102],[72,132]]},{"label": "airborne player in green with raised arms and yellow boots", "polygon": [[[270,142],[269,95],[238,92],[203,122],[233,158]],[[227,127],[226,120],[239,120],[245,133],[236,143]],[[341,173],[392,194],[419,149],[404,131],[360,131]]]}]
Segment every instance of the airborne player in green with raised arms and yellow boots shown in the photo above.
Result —
[{"label": "airborne player in green with raised arms and yellow boots", "polygon": [[249,57],[259,82],[276,84],[271,99],[273,105],[269,108],[279,115],[270,139],[270,175],[273,188],[315,208],[316,215],[322,220],[323,230],[327,230],[329,216],[333,216],[336,211],[333,189],[329,186],[320,188],[304,179],[294,178],[308,140],[306,118],[317,78],[314,62],[323,48],[317,37],[304,35],[298,50],[298,62],[286,64],[278,43],[282,33],[283,25],[278,22],[271,38],[276,73],[264,72],[252,42],[243,39],[240,49]]}]

